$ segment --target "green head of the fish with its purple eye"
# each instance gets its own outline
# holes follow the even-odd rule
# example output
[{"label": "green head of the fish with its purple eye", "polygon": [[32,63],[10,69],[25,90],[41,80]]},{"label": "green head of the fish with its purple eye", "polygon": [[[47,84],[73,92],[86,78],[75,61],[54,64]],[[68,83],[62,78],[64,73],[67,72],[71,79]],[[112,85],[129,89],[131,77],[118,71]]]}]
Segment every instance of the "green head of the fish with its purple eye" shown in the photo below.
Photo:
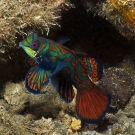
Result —
[{"label": "green head of the fish with its purple eye", "polygon": [[31,58],[34,58],[41,46],[41,40],[39,39],[40,38],[36,33],[31,33],[27,38],[19,43],[19,47],[22,47]]}]

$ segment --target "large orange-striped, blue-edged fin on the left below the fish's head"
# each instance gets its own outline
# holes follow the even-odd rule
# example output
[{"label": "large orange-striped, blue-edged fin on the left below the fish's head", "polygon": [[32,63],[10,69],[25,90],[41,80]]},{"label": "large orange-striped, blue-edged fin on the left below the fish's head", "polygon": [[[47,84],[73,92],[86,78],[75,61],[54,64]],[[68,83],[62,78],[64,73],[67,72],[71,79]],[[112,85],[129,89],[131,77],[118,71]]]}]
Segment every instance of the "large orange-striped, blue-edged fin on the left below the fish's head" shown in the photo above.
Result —
[{"label": "large orange-striped, blue-edged fin on the left below the fish's head", "polygon": [[39,94],[44,85],[49,82],[51,71],[39,66],[31,68],[25,77],[25,86],[29,92]]}]

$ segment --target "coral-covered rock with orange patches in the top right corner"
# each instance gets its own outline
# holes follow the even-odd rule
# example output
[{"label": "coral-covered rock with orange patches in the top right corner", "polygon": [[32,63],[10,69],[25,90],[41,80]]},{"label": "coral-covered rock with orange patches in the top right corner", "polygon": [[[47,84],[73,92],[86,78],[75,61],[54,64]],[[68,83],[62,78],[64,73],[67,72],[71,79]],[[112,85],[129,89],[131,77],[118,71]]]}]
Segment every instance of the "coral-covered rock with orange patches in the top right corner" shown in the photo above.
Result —
[{"label": "coral-covered rock with orange patches in the top right corner", "polygon": [[133,0],[107,0],[100,5],[98,14],[109,20],[123,36],[134,39],[134,5]]}]

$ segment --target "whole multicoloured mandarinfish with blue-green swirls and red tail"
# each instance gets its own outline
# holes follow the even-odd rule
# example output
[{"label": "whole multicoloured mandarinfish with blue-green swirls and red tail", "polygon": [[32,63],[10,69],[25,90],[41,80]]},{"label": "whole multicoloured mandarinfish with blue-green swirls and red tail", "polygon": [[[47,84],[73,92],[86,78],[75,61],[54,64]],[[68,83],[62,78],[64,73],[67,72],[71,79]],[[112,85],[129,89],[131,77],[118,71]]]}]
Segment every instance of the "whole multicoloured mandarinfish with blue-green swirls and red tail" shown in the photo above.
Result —
[{"label": "whole multicoloured mandarinfish with blue-green swirls and red tail", "polygon": [[26,63],[31,67],[25,78],[26,88],[39,94],[51,80],[60,97],[70,103],[77,89],[76,112],[86,123],[97,123],[108,111],[110,96],[92,81],[102,76],[102,64],[96,57],[76,53],[67,47],[32,33],[20,42],[31,57]]}]

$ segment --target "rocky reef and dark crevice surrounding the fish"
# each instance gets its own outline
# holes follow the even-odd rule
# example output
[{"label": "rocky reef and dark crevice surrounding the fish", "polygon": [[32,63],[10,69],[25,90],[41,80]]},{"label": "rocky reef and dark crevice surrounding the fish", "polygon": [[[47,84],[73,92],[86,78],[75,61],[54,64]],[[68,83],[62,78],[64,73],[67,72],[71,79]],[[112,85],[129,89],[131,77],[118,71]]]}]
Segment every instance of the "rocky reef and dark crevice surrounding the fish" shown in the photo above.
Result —
[{"label": "rocky reef and dark crevice surrounding the fish", "polygon": [[[64,103],[51,85],[40,95],[26,90],[19,42],[31,32],[67,36],[66,47],[101,59],[96,84],[112,103],[99,124],[81,122],[75,99]],[[134,63],[134,0],[0,0],[0,135],[134,135]]]}]

